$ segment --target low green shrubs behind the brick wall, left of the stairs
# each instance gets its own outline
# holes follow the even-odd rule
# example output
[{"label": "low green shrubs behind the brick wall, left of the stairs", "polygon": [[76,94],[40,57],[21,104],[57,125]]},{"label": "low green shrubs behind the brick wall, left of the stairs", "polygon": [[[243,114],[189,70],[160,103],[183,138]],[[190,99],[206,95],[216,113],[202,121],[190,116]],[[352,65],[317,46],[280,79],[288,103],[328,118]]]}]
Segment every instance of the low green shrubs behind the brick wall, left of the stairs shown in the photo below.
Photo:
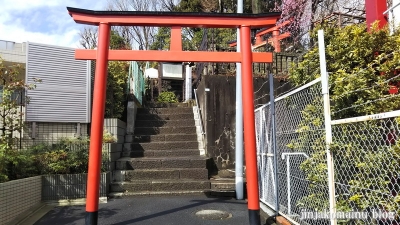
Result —
[{"label": "low green shrubs behind the brick wall, left of the stairs", "polygon": [[[103,143],[114,142],[115,138],[105,132]],[[89,146],[88,138],[61,138],[54,144],[41,143],[8,155],[0,151],[0,183],[45,174],[87,173]],[[103,150],[102,154],[104,172],[108,171],[109,153]]]}]

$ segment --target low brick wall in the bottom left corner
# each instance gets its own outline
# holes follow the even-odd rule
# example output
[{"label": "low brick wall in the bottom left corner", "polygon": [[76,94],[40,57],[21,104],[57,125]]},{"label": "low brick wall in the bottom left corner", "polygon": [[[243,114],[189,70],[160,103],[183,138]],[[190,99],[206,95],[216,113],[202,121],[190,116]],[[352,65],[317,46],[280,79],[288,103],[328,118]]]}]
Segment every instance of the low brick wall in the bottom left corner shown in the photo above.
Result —
[{"label": "low brick wall in the bottom left corner", "polygon": [[7,224],[29,208],[40,204],[41,190],[41,176],[0,183],[0,224]]}]

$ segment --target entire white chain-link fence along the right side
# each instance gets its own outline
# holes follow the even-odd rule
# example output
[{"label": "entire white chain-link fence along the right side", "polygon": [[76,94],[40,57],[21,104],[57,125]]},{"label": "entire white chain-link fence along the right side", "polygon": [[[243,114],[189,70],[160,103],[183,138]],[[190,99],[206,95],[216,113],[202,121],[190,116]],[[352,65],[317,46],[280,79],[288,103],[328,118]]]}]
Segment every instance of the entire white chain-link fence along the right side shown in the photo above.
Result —
[{"label": "entire white chain-link fence along the right side", "polygon": [[276,139],[255,110],[261,202],[294,224],[400,224],[400,110],[330,121],[320,79],[274,102]]}]

